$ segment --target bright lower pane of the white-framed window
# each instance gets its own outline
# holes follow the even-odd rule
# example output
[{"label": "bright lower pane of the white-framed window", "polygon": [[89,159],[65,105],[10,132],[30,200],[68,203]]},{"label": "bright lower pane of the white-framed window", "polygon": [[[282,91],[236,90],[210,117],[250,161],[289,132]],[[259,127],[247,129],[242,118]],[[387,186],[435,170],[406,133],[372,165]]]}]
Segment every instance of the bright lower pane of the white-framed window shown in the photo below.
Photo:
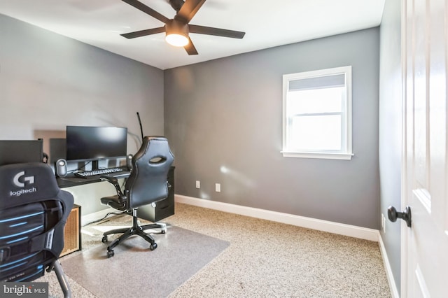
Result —
[{"label": "bright lower pane of the white-framed window", "polygon": [[341,115],[292,118],[288,148],[297,150],[341,150]]}]

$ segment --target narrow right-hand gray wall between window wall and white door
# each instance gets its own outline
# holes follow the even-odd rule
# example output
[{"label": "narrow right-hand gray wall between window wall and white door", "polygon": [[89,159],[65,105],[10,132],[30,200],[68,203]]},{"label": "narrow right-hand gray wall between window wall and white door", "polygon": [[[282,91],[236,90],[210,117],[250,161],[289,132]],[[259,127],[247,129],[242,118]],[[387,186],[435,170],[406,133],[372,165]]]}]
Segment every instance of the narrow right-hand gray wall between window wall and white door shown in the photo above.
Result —
[{"label": "narrow right-hand gray wall between window wall and white door", "polygon": [[381,22],[379,83],[379,173],[381,213],[386,233],[381,231],[388,260],[400,291],[400,223],[387,220],[388,206],[401,209],[402,77],[401,3],[386,0]]}]

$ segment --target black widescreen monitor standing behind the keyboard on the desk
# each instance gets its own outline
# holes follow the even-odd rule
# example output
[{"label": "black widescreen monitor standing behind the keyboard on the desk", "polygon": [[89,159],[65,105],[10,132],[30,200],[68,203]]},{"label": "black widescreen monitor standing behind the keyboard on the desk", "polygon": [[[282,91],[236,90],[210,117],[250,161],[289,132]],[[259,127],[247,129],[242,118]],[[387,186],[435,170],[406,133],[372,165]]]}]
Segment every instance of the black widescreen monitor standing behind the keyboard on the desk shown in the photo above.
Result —
[{"label": "black widescreen monitor standing behind the keyboard on the desk", "polygon": [[66,127],[66,159],[90,160],[124,157],[127,154],[125,127]]}]

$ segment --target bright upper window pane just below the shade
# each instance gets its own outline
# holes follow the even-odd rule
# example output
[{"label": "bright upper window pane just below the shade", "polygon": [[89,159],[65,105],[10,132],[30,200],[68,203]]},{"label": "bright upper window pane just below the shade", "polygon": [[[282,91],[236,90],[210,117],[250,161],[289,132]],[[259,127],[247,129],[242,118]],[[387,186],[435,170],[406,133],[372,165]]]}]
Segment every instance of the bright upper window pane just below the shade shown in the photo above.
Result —
[{"label": "bright upper window pane just below the shade", "polygon": [[288,92],[288,115],[342,111],[344,87]]}]

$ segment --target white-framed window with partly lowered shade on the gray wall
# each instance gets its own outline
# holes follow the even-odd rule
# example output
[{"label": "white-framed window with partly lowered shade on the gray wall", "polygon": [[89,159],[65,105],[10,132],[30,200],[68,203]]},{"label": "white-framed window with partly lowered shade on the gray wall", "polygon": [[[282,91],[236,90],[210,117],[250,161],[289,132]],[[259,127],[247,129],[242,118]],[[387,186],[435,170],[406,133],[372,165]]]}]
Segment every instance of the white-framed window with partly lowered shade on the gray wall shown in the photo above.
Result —
[{"label": "white-framed window with partly lowered shade on the gray wall", "polygon": [[282,153],[351,159],[351,66],[283,75]]}]

